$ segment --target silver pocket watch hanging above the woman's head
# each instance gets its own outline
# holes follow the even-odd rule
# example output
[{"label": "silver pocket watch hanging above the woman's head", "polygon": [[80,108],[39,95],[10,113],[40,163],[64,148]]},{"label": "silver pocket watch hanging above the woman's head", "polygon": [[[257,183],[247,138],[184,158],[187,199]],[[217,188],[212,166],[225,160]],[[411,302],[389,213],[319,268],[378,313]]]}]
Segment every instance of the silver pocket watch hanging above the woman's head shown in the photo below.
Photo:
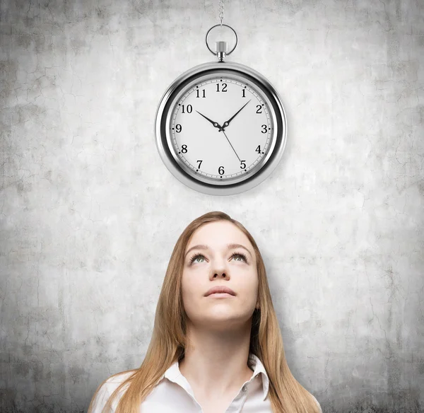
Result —
[{"label": "silver pocket watch hanging above the woman's head", "polygon": [[[221,22],[221,25],[224,25]],[[167,88],[156,110],[155,142],[168,170],[198,192],[230,195],[259,185],[285,149],[287,121],[276,89],[258,71],[225,61],[228,43],[218,41],[217,62],[185,71]]]}]

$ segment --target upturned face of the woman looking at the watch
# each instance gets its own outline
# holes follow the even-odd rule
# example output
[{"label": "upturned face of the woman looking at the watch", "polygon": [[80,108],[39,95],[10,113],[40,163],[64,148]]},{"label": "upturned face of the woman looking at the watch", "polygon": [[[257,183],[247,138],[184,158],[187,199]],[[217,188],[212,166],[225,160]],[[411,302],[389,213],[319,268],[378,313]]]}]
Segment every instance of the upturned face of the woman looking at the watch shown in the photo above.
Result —
[{"label": "upturned face of the woman looking at the watch", "polygon": [[[246,249],[228,248],[228,244],[240,244]],[[234,224],[218,221],[196,230],[185,250],[182,272],[182,299],[188,322],[215,330],[247,322],[258,303],[256,266],[252,244]],[[205,296],[214,286],[227,286],[235,296]]]}]

